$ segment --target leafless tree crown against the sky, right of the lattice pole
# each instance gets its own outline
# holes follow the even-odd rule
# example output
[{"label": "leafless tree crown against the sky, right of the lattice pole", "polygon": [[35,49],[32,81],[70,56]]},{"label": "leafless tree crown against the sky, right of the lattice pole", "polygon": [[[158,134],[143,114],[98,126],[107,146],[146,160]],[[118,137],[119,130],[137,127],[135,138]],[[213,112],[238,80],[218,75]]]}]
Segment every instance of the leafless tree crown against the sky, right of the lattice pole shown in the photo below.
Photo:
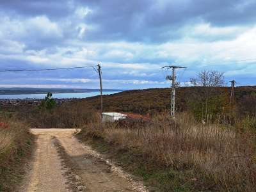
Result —
[{"label": "leafless tree crown against the sky, right of the lattice pole", "polygon": [[224,73],[218,72],[216,70],[202,70],[198,73],[197,77],[191,78],[190,83],[194,86],[204,86],[204,87],[216,87],[223,86]]}]

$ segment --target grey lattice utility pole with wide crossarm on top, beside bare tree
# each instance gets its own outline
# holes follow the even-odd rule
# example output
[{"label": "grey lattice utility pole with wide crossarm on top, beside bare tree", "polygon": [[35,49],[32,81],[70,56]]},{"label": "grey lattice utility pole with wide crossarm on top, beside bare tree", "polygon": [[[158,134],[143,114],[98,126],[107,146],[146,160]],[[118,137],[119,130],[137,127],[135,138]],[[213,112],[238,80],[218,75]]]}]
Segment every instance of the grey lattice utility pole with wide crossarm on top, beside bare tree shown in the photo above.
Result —
[{"label": "grey lattice utility pole with wide crossarm on top, beside bare tree", "polygon": [[172,76],[166,76],[166,79],[172,81],[172,95],[171,95],[171,116],[175,117],[175,89],[177,86],[179,86],[179,83],[176,83],[176,75],[175,75],[175,69],[176,68],[186,68],[186,67],[180,67],[180,66],[174,66],[174,65],[167,65],[162,68],[172,68]]}]

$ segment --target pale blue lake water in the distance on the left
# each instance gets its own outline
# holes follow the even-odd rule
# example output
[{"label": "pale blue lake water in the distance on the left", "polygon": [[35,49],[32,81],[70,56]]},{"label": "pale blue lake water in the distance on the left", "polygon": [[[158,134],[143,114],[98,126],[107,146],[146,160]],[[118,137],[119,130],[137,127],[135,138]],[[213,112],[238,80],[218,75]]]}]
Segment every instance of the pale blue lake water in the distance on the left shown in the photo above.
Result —
[{"label": "pale blue lake water in the distance on the left", "polygon": [[[119,92],[103,92],[104,95],[110,95]],[[44,99],[46,94],[21,94],[21,95],[0,95],[0,99]],[[89,93],[52,93],[56,99],[86,98],[100,95],[100,92]]]}]

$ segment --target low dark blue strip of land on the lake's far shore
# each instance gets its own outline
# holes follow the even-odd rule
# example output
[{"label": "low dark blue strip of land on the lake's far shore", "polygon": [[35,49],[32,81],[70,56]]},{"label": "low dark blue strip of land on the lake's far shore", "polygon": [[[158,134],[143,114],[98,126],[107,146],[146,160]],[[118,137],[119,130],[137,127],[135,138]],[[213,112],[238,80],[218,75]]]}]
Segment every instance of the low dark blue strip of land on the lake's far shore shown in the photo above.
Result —
[{"label": "low dark blue strip of land on the lake's far shore", "polygon": [[[63,89],[63,88],[0,88],[0,95],[46,94],[51,93],[90,93],[99,89]],[[123,90],[104,89],[103,92],[120,92]]]}]

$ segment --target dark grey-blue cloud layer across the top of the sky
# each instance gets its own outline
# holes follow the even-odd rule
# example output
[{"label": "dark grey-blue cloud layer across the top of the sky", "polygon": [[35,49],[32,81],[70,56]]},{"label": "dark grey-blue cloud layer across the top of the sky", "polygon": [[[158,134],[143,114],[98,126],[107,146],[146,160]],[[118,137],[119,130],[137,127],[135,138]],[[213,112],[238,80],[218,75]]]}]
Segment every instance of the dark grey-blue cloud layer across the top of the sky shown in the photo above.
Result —
[{"label": "dark grey-blue cloud layer across the top of the sky", "polygon": [[[38,37],[35,45],[28,43],[32,49],[40,49],[47,45],[62,44],[63,40],[77,38],[79,27],[77,19],[72,17],[77,8],[86,6],[92,10],[83,21],[93,26],[86,30],[83,40],[163,43],[182,38],[180,29],[186,25],[209,22],[211,26],[236,26],[255,23],[256,1],[244,0],[130,0],[130,1],[52,1],[52,0],[13,0],[1,1],[0,10],[15,12],[24,17],[45,15],[50,20],[62,25],[62,38]],[[32,29],[33,30],[33,29]],[[40,34],[39,34],[40,35]],[[235,36],[213,36],[209,41],[234,38]],[[199,38],[199,37],[198,37]],[[207,40],[207,35],[202,36]],[[42,42],[39,45],[38,42]],[[37,44],[37,45],[36,45]],[[38,47],[36,47],[38,46]]]}]

